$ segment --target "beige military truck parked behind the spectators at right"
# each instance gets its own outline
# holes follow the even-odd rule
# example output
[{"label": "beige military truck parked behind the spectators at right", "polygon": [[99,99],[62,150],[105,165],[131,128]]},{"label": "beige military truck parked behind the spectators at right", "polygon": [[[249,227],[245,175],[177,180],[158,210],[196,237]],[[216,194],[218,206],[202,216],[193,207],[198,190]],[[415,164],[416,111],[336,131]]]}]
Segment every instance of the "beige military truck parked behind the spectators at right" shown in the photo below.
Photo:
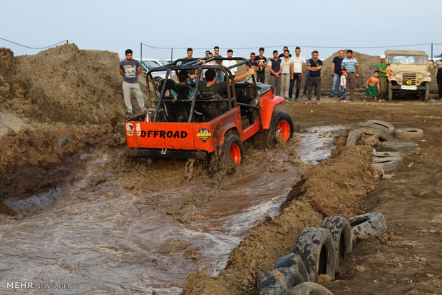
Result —
[{"label": "beige military truck parked behind the spectators at right", "polygon": [[394,73],[387,88],[388,100],[395,95],[416,95],[427,101],[433,63],[425,51],[387,50],[385,56]]}]

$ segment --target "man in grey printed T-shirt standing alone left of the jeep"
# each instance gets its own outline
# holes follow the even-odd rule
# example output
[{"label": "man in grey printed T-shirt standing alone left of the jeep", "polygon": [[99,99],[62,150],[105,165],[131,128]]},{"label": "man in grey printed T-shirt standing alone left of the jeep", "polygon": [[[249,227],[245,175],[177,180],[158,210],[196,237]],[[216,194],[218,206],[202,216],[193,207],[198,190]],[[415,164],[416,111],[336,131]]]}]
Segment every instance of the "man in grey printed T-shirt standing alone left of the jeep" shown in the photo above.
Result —
[{"label": "man in grey printed T-shirt standing alone left of the jeep", "polygon": [[132,54],[132,50],[126,50],[126,58],[120,63],[120,75],[123,76],[123,98],[126,108],[128,109],[128,116],[133,115],[132,103],[130,102],[131,90],[135,93],[135,98],[137,98],[141,112],[145,112],[144,98],[141,93],[140,84],[138,83],[141,66],[139,61],[135,61],[132,58]]}]

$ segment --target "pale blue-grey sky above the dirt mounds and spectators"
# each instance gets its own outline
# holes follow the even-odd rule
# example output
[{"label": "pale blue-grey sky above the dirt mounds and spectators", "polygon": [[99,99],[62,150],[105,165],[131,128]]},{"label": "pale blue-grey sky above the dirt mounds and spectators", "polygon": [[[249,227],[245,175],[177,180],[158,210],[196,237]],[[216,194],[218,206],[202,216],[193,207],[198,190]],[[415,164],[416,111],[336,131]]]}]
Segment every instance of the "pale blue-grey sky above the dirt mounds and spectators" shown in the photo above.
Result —
[{"label": "pale blue-grey sky above the dirt mounds and spectators", "polygon": [[[320,58],[339,48],[379,56],[423,43],[440,44],[433,53],[442,53],[442,0],[0,0],[0,9],[0,38],[30,47],[68,40],[120,58],[127,48],[134,57],[142,51],[143,58],[170,58],[173,47],[173,58],[180,58],[187,47],[202,56],[214,46],[222,55],[234,48],[234,56],[245,57],[261,46],[272,56],[285,45],[301,46],[306,57],[317,49]],[[38,52],[1,39],[0,47],[15,55]],[[430,45],[398,49],[431,52]]]}]

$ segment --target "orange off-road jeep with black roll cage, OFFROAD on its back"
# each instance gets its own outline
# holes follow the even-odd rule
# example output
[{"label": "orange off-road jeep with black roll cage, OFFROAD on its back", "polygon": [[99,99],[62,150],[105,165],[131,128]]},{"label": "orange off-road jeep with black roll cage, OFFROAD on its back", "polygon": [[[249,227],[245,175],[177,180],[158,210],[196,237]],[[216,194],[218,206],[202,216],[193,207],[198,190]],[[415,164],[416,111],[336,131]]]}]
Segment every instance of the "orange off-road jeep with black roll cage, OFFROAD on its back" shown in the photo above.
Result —
[{"label": "orange off-road jeep with black roll cage, OFFROAD on its back", "polygon": [[[242,142],[257,133],[263,133],[270,145],[292,138],[292,118],[274,109],[284,98],[274,96],[272,86],[256,83],[255,76],[250,82],[235,83],[230,69],[249,63],[245,58],[213,57],[205,62],[226,59],[237,64],[227,68],[206,65],[197,58],[179,59],[150,70],[147,79],[154,108],[125,121],[128,155],[197,159],[211,155],[232,165],[242,162]],[[180,64],[183,61],[187,63]],[[200,93],[202,70],[209,68],[221,71],[230,81],[224,95]],[[150,81],[154,71],[167,71],[165,80]],[[175,77],[178,71],[196,72],[197,82],[175,83],[168,79],[171,71],[177,73]]]}]

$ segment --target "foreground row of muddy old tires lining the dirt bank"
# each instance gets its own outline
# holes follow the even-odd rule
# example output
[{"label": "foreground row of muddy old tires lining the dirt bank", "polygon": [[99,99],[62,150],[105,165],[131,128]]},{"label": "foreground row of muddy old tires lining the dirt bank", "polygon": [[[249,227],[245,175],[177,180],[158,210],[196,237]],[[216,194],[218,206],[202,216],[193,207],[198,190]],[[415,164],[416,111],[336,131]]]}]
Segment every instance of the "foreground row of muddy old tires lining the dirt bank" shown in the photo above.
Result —
[{"label": "foreground row of muddy old tires lining the dirt bank", "polygon": [[386,232],[384,216],[371,212],[350,219],[327,217],[321,227],[307,227],[299,234],[293,253],[277,259],[274,269],[257,276],[255,294],[329,295],[317,284],[319,276],[334,280],[339,264],[354,244]]}]

